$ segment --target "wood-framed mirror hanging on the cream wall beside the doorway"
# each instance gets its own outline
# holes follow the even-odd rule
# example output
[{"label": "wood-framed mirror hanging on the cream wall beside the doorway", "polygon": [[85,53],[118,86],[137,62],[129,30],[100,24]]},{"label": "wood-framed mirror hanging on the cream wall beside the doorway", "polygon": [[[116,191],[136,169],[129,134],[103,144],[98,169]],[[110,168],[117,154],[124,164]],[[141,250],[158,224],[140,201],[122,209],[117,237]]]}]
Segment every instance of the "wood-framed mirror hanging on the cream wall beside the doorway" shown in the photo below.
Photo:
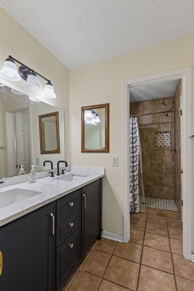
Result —
[{"label": "wood-framed mirror hanging on the cream wall beside the doorway", "polygon": [[109,103],[82,107],[82,153],[109,152]]}]

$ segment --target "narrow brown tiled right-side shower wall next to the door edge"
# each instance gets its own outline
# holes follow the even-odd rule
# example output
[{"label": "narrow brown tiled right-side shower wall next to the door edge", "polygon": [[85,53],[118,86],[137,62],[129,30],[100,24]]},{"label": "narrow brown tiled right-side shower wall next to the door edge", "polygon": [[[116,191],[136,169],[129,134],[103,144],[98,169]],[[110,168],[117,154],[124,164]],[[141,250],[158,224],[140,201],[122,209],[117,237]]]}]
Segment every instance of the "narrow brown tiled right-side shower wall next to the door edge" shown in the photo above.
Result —
[{"label": "narrow brown tiled right-side shower wall next to the door edge", "polygon": [[[181,80],[179,80],[174,94],[174,104],[176,109],[180,109],[181,96]],[[175,114],[175,141],[177,145],[177,154],[174,156],[174,200],[178,211],[181,212],[181,126],[180,126],[180,112]]]}]

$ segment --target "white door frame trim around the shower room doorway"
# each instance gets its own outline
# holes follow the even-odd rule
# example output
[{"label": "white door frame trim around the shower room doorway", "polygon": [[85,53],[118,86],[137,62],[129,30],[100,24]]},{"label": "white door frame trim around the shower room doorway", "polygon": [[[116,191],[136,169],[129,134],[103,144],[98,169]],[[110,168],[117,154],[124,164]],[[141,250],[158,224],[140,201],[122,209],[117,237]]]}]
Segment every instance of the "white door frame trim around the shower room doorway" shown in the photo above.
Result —
[{"label": "white door frame trim around the shower room doorway", "polygon": [[129,91],[132,87],[182,79],[182,154],[183,154],[183,255],[191,260],[192,255],[192,192],[191,192],[191,79],[192,67],[178,68],[123,81],[123,236],[130,240],[129,215]]}]

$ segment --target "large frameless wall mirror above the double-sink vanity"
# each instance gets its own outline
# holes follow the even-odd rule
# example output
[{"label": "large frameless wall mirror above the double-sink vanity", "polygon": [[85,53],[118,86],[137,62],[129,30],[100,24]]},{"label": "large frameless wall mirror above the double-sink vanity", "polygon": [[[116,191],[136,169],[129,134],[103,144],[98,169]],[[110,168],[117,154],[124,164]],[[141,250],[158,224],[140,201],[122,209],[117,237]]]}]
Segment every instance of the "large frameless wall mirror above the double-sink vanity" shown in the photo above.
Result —
[{"label": "large frameless wall mirror above the double-sink vanity", "polygon": [[[64,111],[30,98],[7,86],[0,86],[0,178],[18,175],[20,165],[24,165],[28,174],[31,165],[36,165],[38,172],[50,169],[50,163],[43,167],[45,160],[51,160],[53,168],[57,167],[57,161],[65,160]],[[56,149],[60,150],[41,154],[39,116],[55,112],[58,112],[58,121],[56,116],[50,121],[53,123],[52,118],[55,118],[56,131],[58,126],[60,146]]]}]

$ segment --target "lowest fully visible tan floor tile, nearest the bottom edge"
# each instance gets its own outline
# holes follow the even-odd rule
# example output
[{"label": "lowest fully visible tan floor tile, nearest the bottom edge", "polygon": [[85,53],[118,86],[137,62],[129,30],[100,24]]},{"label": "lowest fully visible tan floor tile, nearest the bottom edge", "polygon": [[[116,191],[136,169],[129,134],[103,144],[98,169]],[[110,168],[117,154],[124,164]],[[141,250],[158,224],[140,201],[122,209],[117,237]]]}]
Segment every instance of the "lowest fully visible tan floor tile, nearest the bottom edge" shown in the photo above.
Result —
[{"label": "lowest fully visible tan floor tile, nearest the bottom edge", "polygon": [[136,290],[138,274],[138,263],[112,256],[104,278],[124,287]]}]

